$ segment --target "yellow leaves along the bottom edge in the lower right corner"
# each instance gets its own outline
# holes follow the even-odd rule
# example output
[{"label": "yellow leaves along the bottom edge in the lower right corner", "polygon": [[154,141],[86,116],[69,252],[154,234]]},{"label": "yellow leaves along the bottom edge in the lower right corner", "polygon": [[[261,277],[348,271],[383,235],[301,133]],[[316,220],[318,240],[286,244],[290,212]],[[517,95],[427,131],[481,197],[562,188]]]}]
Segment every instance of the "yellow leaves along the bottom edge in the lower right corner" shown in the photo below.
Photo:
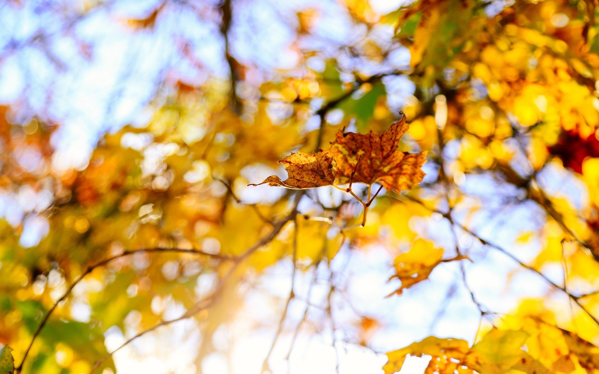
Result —
[{"label": "yellow leaves along the bottom edge in the lower right corner", "polygon": [[[587,373],[599,372],[599,348],[573,333],[543,325],[531,336],[527,330],[493,328],[471,348],[461,339],[429,336],[388,352],[386,374],[396,373],[406,355],[430,355],[425,374],[467,373]],[[537,342],[537,345],[534,345]],[[539,346],[545,344],[546,346]],[[547,355],[551,355],[549,358]]]}]

